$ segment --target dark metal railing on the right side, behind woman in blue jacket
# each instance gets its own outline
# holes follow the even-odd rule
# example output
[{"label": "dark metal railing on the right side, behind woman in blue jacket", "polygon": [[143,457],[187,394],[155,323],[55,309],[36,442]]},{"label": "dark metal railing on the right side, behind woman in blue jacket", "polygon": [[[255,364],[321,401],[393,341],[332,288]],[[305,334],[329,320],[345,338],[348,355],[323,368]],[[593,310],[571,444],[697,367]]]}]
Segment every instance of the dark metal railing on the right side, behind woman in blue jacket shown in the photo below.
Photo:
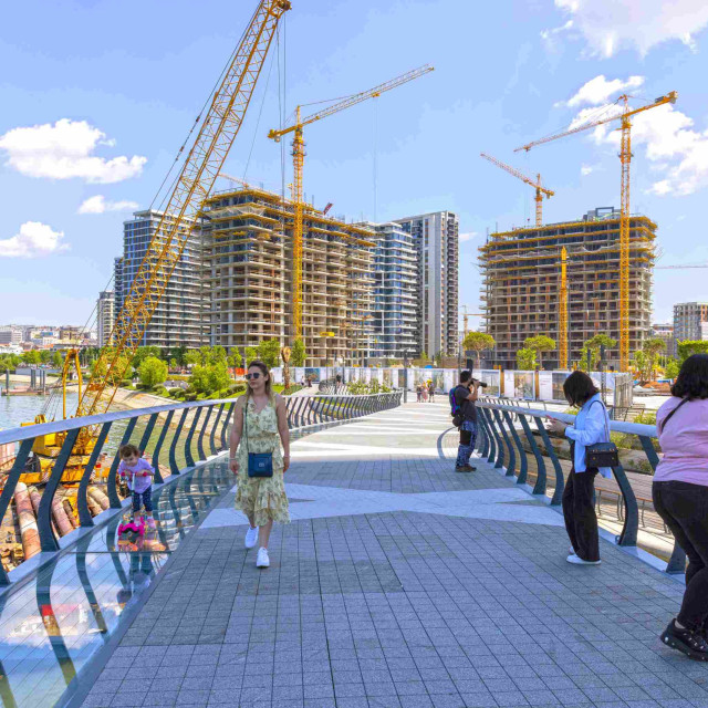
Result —
[{"label": "dark metal railing on the right side, behind woman in blue jacket", "polygon": [[[529,485],[532,493],[549,496],[552,506],[560,506],[566,471],[571,466],[570,454],[559,438],[549,435],[544,424],[556,418],[572,425],[575,417],[489,399],[479,400],[477,409],[477,447],[481,457],[496,468],[506,470],[507,477],[516,477],[518,485]],[[636,546],[641,527],[653,532],[662,530],[670,540],[670,531],[654,511],[650,498],[645,494],[637,499],[623,464],[623,459],[631,461],[647,477],[656,470],[659,462],[656,426],[611,420],[610,429],[613,439],[620,441],[621,464],[613,469],[616,488],[603,490],[602,482],[596,482],[598,516],[607,513],[613,507],[616,509],[615,520],[622,524],[622,531],[615,538],[618,545]],[[641,478],[632,475],[632,479],[636,486]],[[616,503],[603,506],[603,493],[605,499],[614,494]],[[686,555],[674,540],[666,572],[683,573],[685,566]]]}]

